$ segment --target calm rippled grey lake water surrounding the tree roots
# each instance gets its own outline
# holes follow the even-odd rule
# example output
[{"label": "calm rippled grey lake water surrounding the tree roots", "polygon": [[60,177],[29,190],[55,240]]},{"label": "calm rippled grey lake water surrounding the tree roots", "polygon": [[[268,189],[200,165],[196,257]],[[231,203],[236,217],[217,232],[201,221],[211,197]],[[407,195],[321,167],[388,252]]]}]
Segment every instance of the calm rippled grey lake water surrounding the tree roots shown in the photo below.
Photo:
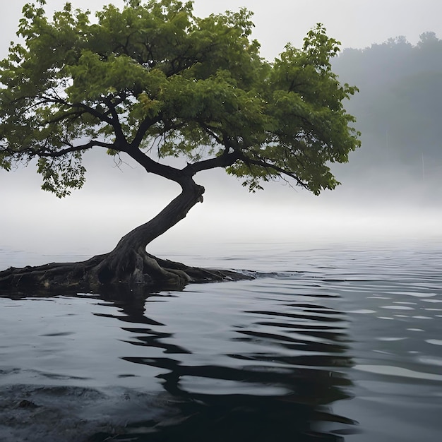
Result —
[{"label": "calm rippled grey lake water surrounding the tree roots", "polygon": [[0,297],[1,442],[440,440],[442,239],[168,257],[257,277]]}]

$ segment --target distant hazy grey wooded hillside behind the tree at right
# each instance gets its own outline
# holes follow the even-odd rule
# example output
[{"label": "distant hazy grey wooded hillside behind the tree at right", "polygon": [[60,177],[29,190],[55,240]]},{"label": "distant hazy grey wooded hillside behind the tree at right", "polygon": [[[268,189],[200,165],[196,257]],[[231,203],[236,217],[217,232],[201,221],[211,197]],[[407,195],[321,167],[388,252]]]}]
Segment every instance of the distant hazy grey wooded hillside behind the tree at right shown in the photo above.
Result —
[{"label": "distant hazy grey wooded hillside behind the tree at right", "polygon": [[442,184],[442,40],[425,32],[415,46],[397,37],[345,49],[333,68],[360,90],[347,110],[362,148],[342,172],[390,170]]}]

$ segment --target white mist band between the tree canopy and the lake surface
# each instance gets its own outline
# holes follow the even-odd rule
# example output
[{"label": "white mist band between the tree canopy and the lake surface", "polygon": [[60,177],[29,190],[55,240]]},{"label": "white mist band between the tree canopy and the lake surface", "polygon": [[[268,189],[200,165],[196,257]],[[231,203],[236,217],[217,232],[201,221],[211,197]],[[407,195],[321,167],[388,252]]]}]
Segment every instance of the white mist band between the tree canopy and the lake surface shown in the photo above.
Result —
[{"label": "white mist band between the tree canopy and the lake surface", "polygon": [[[84,189],[61,200],[40,190],[40,177],[32,166],[0,174],[0,246],[40,255],[104,253],[179,193],[178,186],[150,177],[141,167],[117,167],[103,152],[88,155],[85,165],[88,181]],[[345,167],[351,168],[351,162],[340,166],[338,179]],[[313,196],[283,181],[249,193],[223,171],[205,172],[196,176],[206,189],[204,202],[150,244],[149,250],[165,256],[189,247],[208,250],[211,245],[238,241],[301,245],[342,239],[376,242],[441,237],[438,199],[422,180],[405,179],[400,172],[396,175],[390,173],[390,186],[385,180],[379,185],[376,174],[372,179],[344,176],[334,191]],[[434,189],[433,194],[437,194]]]}]

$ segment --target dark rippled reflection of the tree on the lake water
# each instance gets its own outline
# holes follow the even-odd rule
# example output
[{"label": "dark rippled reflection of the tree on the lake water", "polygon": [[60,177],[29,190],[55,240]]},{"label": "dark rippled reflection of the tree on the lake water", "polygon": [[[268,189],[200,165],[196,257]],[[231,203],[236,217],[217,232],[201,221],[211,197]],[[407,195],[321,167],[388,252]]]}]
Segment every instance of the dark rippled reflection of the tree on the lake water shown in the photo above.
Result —
[{"label": "dark rippled reflection of the tree on the lake water", "polygon": [[[220,286],[215,290],[222,292]],[[188,295],[166,295],[160,301],[164,306]],[[342,441],[343,435],[356,431],[355,422],[334,414],[332,407],[335,401],[351,398],[352,382],[345,374],[352,366],[347,319],[345,313],[325,306],[322,297],[310,295],[311,301],[304,297],[299,302],[292,297],[289,303],[287,297],[282,302],[278,297],[267,303],[275,309],[241,311],[241,324],[232,316],[229,342],[209,341],[215,348],[208,354],[219,353],[211,363],[203,345],[197,344],[205,338],[201,330],[196,328],[191,340],[182,340],[173,326],[185,311],[171,308],[166,324],[165,316],[160,315],[160,321],[155,313],[156,295],[108,296],[121,308],[121,328],[132,333],[128,342],[162,349],[164,354],[150,357],[146,349],[145,357],[122,359],[164,370],[157,378],[177,409],[163,422],[131,424],[130,440]],[[193,314],[197,321],[204,312]]]}]

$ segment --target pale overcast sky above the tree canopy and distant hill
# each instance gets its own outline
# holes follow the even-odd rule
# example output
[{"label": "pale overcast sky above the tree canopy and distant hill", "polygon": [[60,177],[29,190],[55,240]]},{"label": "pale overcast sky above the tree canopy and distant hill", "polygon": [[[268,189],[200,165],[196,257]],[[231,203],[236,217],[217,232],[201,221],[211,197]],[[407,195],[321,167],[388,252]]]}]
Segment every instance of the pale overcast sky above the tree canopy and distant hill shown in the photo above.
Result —
[{"label": "pale overcast sky above the tree canopy and distant hill", "polygon": [[[65,1],[47,0],[47,10],[60,9]],[[73,6],[97,10],[104,4],[123,5],[123,0],[72,0]],[[1,0],[0,53],[6,55],[8,42],[15,38],[23,0]],[[306,32],[316,23],[325,25],[330,37],[342,47],[363,48],[390,37],[405,35],[413,44],[422,32],[442,37],[441,0],[196,0],[195,13],[237,10],[245,6],[255,13],[255,34],[262,54],[273,59],[287,42],[299,47]]]}]

